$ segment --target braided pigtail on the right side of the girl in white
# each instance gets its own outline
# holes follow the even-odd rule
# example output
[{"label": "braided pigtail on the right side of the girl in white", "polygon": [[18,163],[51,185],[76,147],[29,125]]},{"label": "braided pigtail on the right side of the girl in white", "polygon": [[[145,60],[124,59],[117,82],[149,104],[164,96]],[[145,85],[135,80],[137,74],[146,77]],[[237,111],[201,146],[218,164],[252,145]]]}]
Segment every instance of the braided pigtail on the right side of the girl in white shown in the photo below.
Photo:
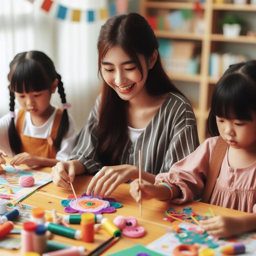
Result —
[{"label": "braided pigtail on the right side of the girl in white", "polygon": [[[57,75],[57,79],[58,79],[58,93],[60,94],[61,102],[66,103],[66,95],[64,92],[63,83],[61,81],[61,76],[58,73],[56,73],[56,75]],[[58,127],[57,136],[54,141],[54,147],[55,147],[56,151],[58,151],[60,149],[61,141],[62,141],[63,137],[65,137],[65,135],[67,134],[68,129],[69,129],[69,120],[68,120],[68,115],[67,115],[67,109],[64,109],[63,113],[62,113],[62,117],[61,117],[61,122]]]}]

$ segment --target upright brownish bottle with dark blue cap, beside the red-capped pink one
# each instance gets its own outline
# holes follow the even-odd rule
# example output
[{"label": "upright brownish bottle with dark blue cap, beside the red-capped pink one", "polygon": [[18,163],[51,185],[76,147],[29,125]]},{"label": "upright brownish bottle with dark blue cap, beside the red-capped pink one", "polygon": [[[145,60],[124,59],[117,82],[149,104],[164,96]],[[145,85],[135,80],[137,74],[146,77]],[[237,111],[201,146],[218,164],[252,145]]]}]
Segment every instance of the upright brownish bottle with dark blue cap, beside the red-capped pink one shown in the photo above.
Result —
[{"label": "upright brownish bottle with dark blue cap, beside the red-capped pink one", "polygon": [[33,252],[40,255],[47,252],[46,231],[47,228],[44,225],[38,225],[33,234]]}]

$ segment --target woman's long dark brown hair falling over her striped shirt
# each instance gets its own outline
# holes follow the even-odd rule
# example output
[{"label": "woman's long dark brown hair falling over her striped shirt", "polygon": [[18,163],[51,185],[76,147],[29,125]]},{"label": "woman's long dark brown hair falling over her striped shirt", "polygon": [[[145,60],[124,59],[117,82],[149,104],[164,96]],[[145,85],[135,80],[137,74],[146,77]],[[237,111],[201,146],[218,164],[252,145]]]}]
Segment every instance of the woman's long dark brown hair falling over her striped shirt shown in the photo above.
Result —
[{"label": "woman's long dark brown hair falling over her striped shirt", "polygon": [[[101,62],[107,52],[114,47],[121,47],[126,52],[137,65],[141,79],[143,79],[144,74],[138,54],[142,54],[148,60],[155,49],[158,49],[159,44],[153,29],[138,13],[112,16],[101,27],[98,39],[98,67],[101,78],[103,78]],[[177,92],[183,95],[164,71],[159,54],[153,68],[148,70],[145,85],[150,95],[161,95],[167,92]],[[120,153],[123,152],[128,138],[127,127],[125,101],[103,81],[97,147],[103,165],[119,164]]]}]

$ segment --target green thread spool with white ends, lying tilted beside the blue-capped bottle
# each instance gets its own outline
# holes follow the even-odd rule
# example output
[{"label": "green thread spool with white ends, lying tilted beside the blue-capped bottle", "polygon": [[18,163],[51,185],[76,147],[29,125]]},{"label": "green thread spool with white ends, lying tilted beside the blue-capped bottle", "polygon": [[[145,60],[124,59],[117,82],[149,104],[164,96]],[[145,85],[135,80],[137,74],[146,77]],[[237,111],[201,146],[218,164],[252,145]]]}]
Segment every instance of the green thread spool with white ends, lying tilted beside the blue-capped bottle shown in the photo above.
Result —
[{"label": "green thread spool with white ends, lying tilted beside the blue-capped bottle", "polygon": [[82,234],[81,230],[71,229],[69,227],[63,227],[61,225],[54,224],[52,222],[46,222],[45,227],[47,227],[47,230],[49,230],[52,234],[65,236],[65,237],[73,238],[76,240],[80,240],[81,234]]}]

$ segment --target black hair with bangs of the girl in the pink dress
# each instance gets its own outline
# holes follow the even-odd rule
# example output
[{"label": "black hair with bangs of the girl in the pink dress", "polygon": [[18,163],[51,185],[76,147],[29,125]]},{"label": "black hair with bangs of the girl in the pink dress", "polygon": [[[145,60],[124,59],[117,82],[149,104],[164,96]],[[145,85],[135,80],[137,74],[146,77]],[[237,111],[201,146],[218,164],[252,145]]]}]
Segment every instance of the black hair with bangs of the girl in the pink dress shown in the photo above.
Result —
[{"label": "black hair with bangs of the girl in the pink dress", "polygon": [[220,79],[211,102],[213,115],[225,119],[252,120],[255,107],[251,106],[254,101],[249,98],[255,97],[255,92],[249,95],[252,89],[249,83],[241,74]]}]

